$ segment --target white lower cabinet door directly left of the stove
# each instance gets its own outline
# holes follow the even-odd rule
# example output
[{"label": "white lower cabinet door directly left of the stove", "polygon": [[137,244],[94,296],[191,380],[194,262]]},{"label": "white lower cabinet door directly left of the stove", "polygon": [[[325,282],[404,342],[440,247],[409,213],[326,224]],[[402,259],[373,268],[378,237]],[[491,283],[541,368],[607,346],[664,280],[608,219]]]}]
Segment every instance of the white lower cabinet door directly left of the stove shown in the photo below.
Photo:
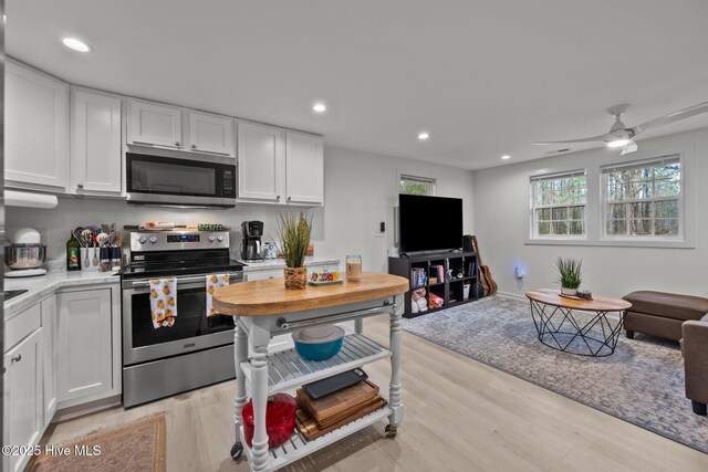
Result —
[{"label": "white lower cabinet door directly left of the stove", "polygon": [[[56,301],[56,395],[61,407],[110,395],[116,389],[114,363],[121,361],[119,350],[116,358],[112,340],[115,319],[111,289],[62,292]],[[119,313],[115,317],[119,321]]]}]

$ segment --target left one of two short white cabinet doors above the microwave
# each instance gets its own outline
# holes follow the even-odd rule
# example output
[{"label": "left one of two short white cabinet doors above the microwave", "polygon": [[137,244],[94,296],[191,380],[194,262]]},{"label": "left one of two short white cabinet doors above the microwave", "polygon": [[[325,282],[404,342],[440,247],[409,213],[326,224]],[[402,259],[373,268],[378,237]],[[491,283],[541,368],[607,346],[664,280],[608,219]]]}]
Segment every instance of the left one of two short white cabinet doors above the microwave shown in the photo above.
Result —
[{"label": "left one of two short white cabinet doors above the microwave", "polygon": [[128,144],[181,149],[181,108],[131,98]]}]

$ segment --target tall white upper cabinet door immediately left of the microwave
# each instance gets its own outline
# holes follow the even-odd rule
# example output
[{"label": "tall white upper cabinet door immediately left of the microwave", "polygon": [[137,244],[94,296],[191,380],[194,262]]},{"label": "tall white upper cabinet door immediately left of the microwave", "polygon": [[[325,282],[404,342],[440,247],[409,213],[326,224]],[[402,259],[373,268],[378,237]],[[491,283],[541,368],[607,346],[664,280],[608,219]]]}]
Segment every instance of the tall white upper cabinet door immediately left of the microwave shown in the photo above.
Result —
[{"label": "tall white upper cabinet door immediately left of the microwave", "polygon": [[73,88],[71,192],[121,193],[121,97]]}]

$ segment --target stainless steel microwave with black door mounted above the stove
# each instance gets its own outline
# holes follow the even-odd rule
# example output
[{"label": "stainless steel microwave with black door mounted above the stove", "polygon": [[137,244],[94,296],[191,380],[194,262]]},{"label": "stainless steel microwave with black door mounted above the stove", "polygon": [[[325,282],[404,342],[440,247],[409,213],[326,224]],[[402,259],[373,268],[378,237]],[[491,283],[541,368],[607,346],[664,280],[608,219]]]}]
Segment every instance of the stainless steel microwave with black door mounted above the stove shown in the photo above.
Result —
[{"label": "stainless steel microwave with black door mounted above the stove", "polygon": [[164,207],[236,206],[236,159],[199,159],[126,153],[129,204]]}]

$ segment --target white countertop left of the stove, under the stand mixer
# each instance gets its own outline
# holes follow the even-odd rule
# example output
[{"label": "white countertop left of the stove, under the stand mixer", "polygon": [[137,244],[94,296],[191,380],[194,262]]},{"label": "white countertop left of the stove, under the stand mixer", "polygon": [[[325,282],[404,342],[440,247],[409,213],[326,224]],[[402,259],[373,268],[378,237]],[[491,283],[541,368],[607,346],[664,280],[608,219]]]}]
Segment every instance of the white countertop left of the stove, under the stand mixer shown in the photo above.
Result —
[{"label": "white countertop left of the stove, under the stand mixer", "polygon": [[119,282],[121,277],[115,275],[115,272],[66,272],[65,269],[50,269],[46,275],[33,277],[6,277],[4,290],[27,290],[27,292],[4,302],[3,316],[7,319],[59,289]]}]

